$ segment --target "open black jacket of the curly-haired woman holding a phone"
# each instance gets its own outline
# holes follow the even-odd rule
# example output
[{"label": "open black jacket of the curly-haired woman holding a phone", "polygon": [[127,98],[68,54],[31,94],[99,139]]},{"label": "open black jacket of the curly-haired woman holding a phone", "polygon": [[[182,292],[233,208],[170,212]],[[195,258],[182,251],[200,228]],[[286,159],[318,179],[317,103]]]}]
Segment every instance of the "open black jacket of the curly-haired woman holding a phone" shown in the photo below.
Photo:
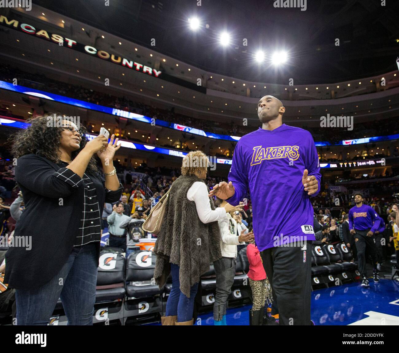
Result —
[{"label": "open black jacket of the curly-haired woman holding a phone", "polygon": [[[32,236],[31,250],[10,247],[6,254],[4,282],[10,288],[31,289],[53,278],[67,261],[79,231],[84,202],[84,184],[72,187],[55,176],[61,169],[36,154],[18,158],[15,179],[24,195],[25,210],[16,224],[14,237]],[[96,188],[100,215],[104,202],[116,202],[122,191],[109,196],[104,178],[87,175]],[[61,202],[62,199],[62,202]],[[97,245],[99,256],[100,242]]]}]

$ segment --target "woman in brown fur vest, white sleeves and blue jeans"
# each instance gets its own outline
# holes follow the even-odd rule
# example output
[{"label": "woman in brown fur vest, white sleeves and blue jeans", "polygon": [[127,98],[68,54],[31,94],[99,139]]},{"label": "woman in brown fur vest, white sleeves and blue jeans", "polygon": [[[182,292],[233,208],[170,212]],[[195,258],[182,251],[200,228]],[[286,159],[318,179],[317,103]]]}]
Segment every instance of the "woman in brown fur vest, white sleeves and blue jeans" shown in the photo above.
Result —
[{"label": "woman in brown fur vest, white sleeves and blue jeans", "polygon": [[201,151],[183,158],[182,175],[169,191],[162,229],[155,243],[154,279],[161,288],[172,272],[172,290],[162,325],[192,325],[194,298],[201,275],[222,257],[217,221],[228,207],[217,207],[204,183],[209,160]]}]

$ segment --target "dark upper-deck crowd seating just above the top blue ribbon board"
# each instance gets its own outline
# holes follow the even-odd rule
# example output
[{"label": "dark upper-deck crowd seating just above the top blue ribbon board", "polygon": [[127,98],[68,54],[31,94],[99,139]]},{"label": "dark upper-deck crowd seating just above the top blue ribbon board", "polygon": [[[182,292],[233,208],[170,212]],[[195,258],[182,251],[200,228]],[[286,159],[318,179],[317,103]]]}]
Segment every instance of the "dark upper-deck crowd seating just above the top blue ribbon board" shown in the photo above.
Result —
[{"label": "dark upper-deck crowd seating just above the top blue ribbon board", "polygon": [[[241,126],[236,124],[233,120],[229,123],[222,123],[214,120],[192,118],[182,114],[177,114],[174,111],[174,107],[170,109],[160,109],[155,106],[144,105],[140,102],[133,101],[129,97],[116,97],[111,94],[94,91],[93,89],[87,89],[81,85],[73,85],[71,83],[56,81],[46,77],[43,74],[22,71],[16,67],[11,67],[10,65],[3,65],[0,67],[0,79],[6,82],[13,82],[14,79],[17,79],[18,84],[22,86],[39,89],[58,95],[65,95],[67,97],[97,105],[118,108],[121,110],[134,112],[136,114],[142,114],[152,118],[164,120],[170,123],[198,128],[205,132],[243,136],[249,132],[252,132],[258,126]],[[5,109],[6,107],[4,106],[2,108]],[[363,136],[356,136],[356,138],[397,134],[399,129],[397,124],[395,124],[396,120],[397,117],[379,121],[378,124],[375,124],[375,122],[362,123],[361,131]],[[295,124],[290,123],[290,125]],[[300,127],[310,131],[315,141],[329,141],[332,144],[336,144],[343,139],[354,138],[353,131],[342,129],[325,129],[321,127],[306,126],[303,124],[300,124]]]}]

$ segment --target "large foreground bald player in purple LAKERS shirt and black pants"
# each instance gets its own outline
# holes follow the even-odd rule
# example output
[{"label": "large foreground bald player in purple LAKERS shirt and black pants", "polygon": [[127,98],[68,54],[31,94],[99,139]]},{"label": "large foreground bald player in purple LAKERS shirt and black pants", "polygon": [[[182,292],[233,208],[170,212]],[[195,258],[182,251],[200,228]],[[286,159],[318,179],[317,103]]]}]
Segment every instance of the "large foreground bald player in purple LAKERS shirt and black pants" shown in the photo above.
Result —
[{"label": "large foreground bald player in purple LAKERS shirt and black pants", "polygon": [[[209,195],[238,205],[249,189],[253,233],[279,309],[280,325],[310,325],[311,196],[320,190],[320,167],[310,132],[282,123],[285,108],[262,97],[262,127],[243,136],[234,150],[229,183]],[[289,221],[287,221],[289,220]]]}]

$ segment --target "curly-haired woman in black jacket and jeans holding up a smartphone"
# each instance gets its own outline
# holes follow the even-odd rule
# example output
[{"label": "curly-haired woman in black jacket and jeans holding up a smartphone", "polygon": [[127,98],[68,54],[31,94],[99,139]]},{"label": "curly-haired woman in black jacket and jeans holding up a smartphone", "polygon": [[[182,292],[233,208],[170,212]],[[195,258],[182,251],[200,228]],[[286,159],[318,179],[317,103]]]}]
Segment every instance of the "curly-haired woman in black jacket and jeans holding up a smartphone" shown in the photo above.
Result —
[{"label": "curly-haired woman in black jacket and jeans holding up a smartphone", "polygon": [[32,237],[32,248],[9,248],[4,282],[16,289],[17,325],[47,325],[58,298],[68,325],[91,325],[101,214],[122,193],[113,166],[120,145],[114,135],[110,143],[104,135],[88,141],[69,120],[62,127],[48,121],[36,117],[12,139],[26,206],[14,236]]}]

